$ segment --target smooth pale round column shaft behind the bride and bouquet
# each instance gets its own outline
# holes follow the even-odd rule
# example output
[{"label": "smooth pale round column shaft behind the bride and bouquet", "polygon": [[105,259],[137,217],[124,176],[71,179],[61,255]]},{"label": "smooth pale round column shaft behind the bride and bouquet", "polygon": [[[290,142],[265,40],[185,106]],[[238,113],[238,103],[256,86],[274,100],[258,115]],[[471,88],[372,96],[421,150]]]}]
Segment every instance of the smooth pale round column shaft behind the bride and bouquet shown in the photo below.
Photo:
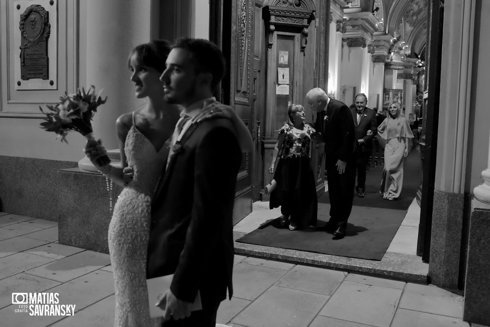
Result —
[{"label": "smooth pale round column shaft behind the bride and bouquet", "polygon": [[[138,44],[150,41],[151,0],[87,0],[85,9],[85,44],[80,52],[85,55],[85,74],[81,86],[94,85],[107,96],[93,121],[94,134],[108,149],[118,148],[116,119],[135,110],[143,103],[134,96],[127,58]],[[82,34],[82,33],[81,33]],[[80,65],[84,69],[83,65]],[[84,75],[84,76],[83,76]]]}]

